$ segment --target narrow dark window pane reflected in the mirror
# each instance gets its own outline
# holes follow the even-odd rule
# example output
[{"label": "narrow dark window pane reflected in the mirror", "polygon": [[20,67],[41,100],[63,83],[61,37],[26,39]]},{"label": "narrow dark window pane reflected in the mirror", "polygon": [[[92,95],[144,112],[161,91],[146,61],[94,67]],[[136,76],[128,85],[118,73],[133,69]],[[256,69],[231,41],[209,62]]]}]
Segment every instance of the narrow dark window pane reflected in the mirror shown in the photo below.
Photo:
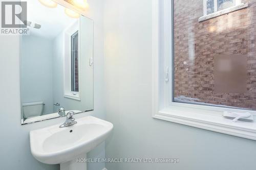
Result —
[{"label": "narrow dark window pane reflected in the mirror", "polygon": [[71,36],[71,91],[79,91],[78,83],[78,31]]}]

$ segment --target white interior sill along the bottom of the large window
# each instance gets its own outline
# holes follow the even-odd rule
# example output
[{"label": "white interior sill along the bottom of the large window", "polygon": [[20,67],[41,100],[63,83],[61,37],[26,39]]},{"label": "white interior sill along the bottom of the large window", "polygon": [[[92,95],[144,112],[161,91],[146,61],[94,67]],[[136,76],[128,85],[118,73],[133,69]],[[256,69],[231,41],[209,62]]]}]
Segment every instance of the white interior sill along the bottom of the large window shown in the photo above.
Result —
[{"label": "white interior sill along the bottom of the large window", "polygon": [[[182,125],[256,140],[256,122],[239,121],[234,123],[231,119],[224,118],[221,114],[216,114],[215,111],[199,113],[193,109],[193,111],[184,111],[184,109],[179,108],[172,106],[172,109],[163,109],[153,114],[153,117]],[[253,117],[255,118],[255,115]]]}]

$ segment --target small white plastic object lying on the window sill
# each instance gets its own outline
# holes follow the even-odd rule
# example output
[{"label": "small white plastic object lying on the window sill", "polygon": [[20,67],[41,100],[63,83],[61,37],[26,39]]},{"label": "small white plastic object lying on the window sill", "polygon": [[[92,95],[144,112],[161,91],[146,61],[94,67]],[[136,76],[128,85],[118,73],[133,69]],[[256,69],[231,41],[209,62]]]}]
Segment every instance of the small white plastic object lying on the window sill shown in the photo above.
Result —
[{"label": "small white plastic object lying on the window sill", "polygon": [[237,113],[237,112],[223,112],[223,117],[233,119],[233,122],[238,122],[238,120],[241,121],[249,121],[253,122],[253,116],[252,114],[246,112],[246,113]]}]

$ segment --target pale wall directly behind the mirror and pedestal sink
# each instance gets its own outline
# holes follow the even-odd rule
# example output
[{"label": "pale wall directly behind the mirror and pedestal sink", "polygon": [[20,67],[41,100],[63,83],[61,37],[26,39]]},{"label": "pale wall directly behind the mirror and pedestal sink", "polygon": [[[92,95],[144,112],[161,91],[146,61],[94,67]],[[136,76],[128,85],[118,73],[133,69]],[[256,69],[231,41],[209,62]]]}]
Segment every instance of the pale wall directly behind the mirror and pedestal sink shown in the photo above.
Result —
[{"label": "pale wall directly behind the mirror and pedestal sink", "polygon": [[[92,114],[104,118],[103,105],[103,2],[90,0],[88,16],[94,20],[94,111],[78,114],[75,117]],[[47,165],[38,162],[30,153],[29,131],[62,123],[65,117],[47,120],[31,125],[20,125],[19,94],[19,38],[0,36],[0,169],[10,170],[51,170],[58,165]],[[89,158],[104,157],[104,144],[88,154]],[[101,170],[104,163],[88,164],[89,170]]]}]

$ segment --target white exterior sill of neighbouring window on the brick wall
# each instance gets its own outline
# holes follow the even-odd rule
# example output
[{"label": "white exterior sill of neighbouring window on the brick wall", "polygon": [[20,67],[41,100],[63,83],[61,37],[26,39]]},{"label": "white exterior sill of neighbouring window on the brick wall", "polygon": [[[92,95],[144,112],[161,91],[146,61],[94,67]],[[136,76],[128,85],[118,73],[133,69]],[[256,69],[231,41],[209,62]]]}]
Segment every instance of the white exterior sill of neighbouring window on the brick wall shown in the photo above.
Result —
[{"label": "white exterior sill of neighbouring window on the brick wall", "polygon": [[211,13],[211,14],[209,14],[209,15],[201,16],[201,17],[198,19],[198,21],[199,21],[199,22],[202,22],[202,21],[205,21],[205,20],[208,20],[208,19],[211,19],[211,18],[215,18],[215,17],[221,16],[221,15],[224,15],[224,14],[227,14],[227,13],[230,13],[230,12],[233,12],[233,11],[237,11],[237,10],[240,10],[240,9],[243,9],[243,8],[247,8],[247,7],[248,7],[248,4],[247,4],[247,3],[245,3],[245,4],[240,4],[240,5],[237,5],[237,6],[234,6],[234,7],[230,7],[230,8],[221,10],[221,11],[217,11],[217,12]]}]

